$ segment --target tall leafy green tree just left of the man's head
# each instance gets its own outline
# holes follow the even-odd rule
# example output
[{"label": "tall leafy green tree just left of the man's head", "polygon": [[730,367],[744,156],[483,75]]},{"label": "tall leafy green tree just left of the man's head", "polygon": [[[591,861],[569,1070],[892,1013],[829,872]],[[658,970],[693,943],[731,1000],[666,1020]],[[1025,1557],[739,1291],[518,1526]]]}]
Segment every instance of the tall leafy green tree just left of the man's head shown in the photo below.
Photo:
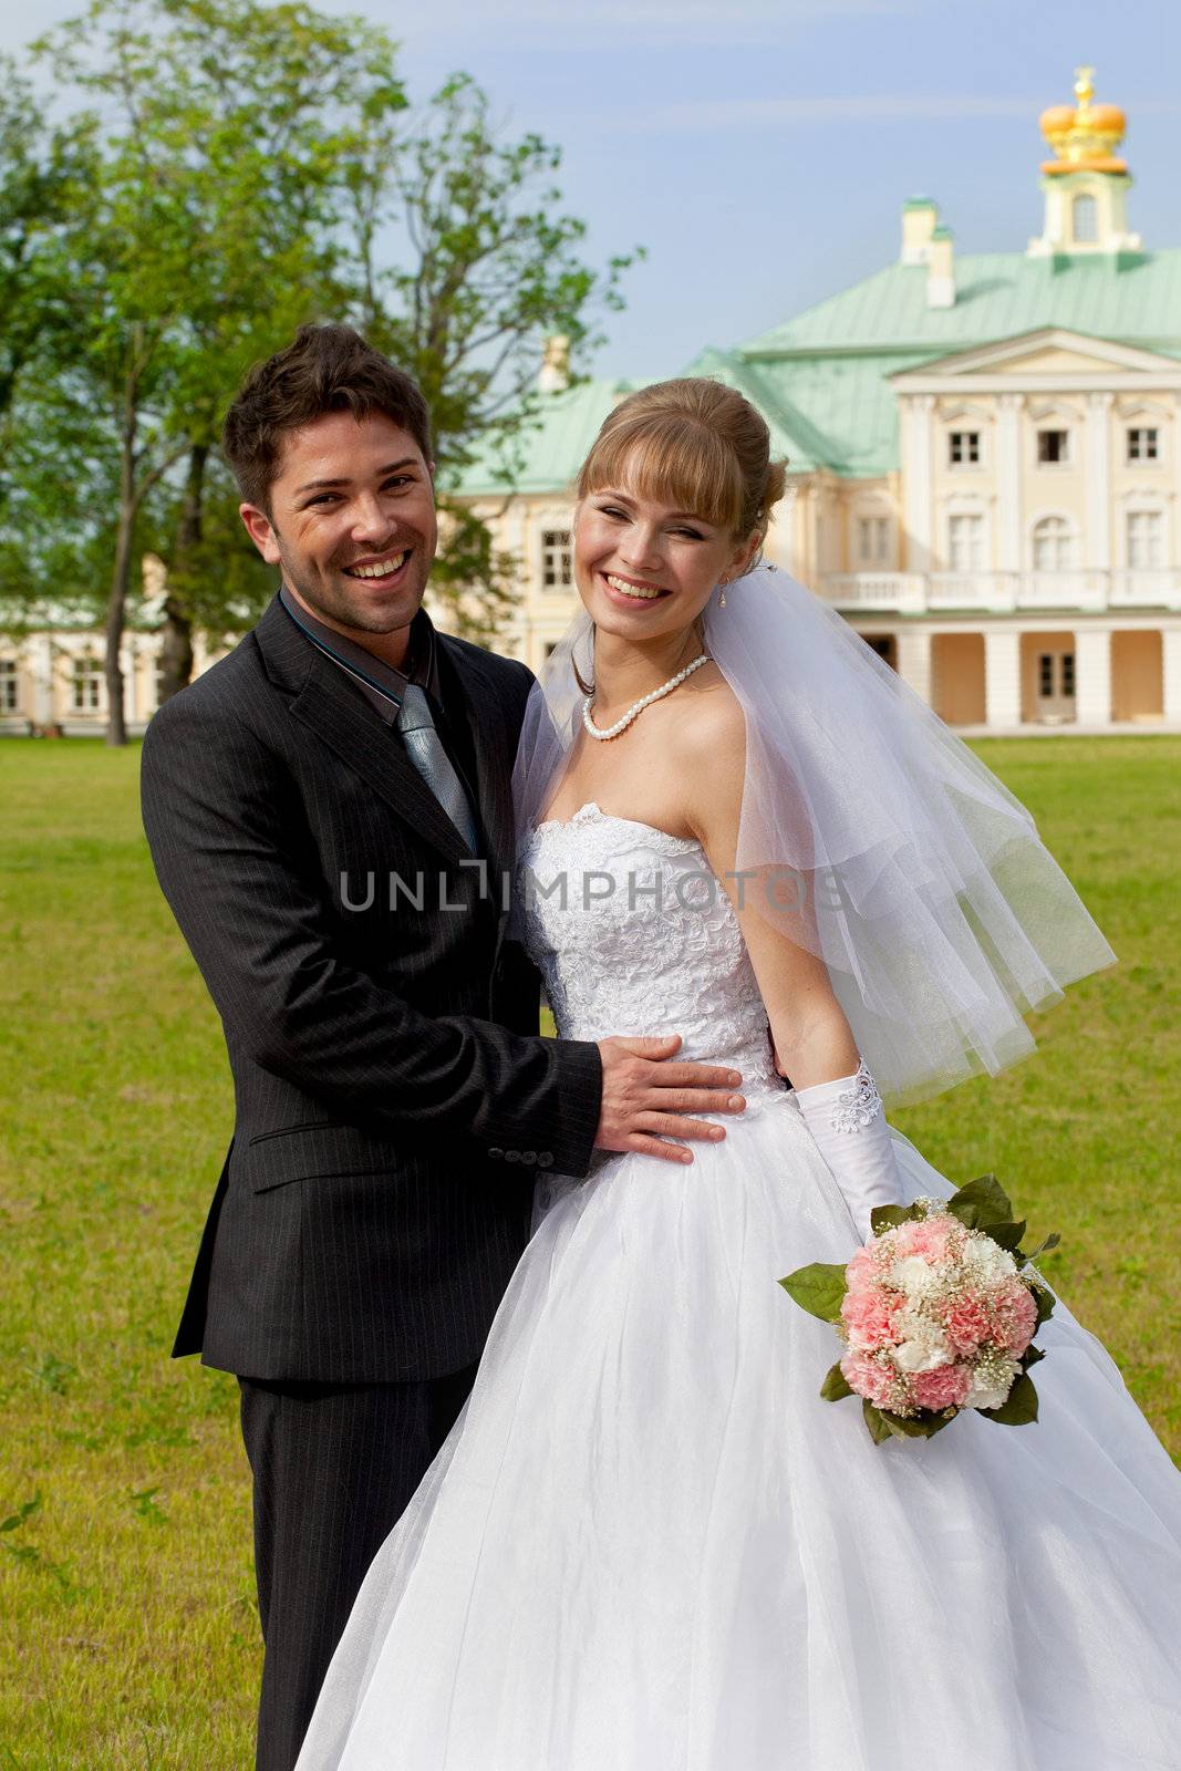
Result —
[{"label": "tall leafy green tree just left of the man's head", "polygon": [[184,581],[225,390],[329,296],[329,205],[356,108],[404,101],[381,32],[305,5],[92,0],[39,53],[99,101],[97,175],[71,216],[80,299],[64,374],[117,460],[104,638],[108,742],[122,744],[119,646],[149,501],[186,462],[172,547]]}]

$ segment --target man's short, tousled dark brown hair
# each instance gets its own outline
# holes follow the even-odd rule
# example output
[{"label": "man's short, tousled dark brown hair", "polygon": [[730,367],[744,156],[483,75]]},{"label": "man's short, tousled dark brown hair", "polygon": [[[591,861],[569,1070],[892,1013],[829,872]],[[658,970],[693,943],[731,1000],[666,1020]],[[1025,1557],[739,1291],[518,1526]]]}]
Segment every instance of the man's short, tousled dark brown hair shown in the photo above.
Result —
[{"label": "man's short, tousled dark brown hair", "polygon": [[225,414],[221,446],[248,505],[269,512],[283,439],[328,413],[352,413],[358,421],[384,413],[430,460],[430,413],[418,383],[352,326],[301,326],[283,351],[250,370]]}]

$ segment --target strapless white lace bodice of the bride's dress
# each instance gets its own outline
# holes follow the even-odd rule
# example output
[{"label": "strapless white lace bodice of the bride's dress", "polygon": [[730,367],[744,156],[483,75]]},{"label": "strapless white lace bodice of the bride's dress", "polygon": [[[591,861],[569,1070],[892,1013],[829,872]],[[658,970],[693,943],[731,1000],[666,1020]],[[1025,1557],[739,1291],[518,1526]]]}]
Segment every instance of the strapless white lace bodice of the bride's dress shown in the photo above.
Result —
[{"label": "strapless white lace bodice of the bride's dress", "polygon": [[524,942],[567,1040],[680,1032],[678,1056],[783,1091],[745,942],[701,845],[591,800],[540,824],[517,870]]}]

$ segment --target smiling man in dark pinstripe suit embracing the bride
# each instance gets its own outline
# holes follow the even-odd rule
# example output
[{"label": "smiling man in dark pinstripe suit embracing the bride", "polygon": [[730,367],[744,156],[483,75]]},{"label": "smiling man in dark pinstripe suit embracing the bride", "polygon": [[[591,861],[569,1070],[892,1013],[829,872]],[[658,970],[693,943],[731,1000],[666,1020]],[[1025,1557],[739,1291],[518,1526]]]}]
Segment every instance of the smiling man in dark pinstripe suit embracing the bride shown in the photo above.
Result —
[{"label": "smiling man in dark pinstripe suit embracing the bride", "polygon": [[676,1038],[538,1038],[505,939],[531,677],[436,632],[420,390],[305,328],[225,427],[282,588],[156,715],[143,824],[214,999],[230,1151],[175,1355],[239,1374],[266,1640],[259,1771],[290,1771],[365,1571],[446,1438],[538,1169],[687,1160],[740,1110]]}]

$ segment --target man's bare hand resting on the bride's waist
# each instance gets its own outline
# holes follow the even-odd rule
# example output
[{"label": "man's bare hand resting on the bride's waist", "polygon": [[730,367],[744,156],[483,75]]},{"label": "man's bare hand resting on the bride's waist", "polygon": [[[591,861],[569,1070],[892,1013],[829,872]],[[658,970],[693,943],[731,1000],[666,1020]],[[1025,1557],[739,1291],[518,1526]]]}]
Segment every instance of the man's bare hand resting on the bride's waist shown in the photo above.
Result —
[{"label": "man's bare hand resting on the bride's waist", "polygon": [[671,1063],[678,1032],[659,1040],[600,1040],[602,1107],[597,1149],[636,1149],[664,1162],[692,1162],[692,1151],[668,1139],[719,1142],[726,1128],[694,1119],[699,1112],[742,1112],[735,1089],[742,1075],[726,1064]]}]

